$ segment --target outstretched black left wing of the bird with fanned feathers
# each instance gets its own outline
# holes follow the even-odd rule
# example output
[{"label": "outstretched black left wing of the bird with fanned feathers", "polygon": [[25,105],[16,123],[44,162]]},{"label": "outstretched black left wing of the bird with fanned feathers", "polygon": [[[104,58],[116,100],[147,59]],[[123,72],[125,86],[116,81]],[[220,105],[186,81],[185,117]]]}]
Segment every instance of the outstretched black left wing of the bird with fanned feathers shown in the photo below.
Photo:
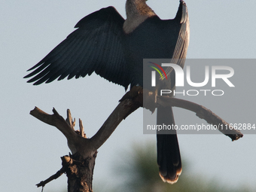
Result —
[{"label": "outstretched black left wing of the bird with fanned feathers", "polygon": [[108,81],[129,84],[123,56],[123,17],[113,7],[102,8],[81,19],[76,29],[57,45],[24,78],[34,84],[50,83],[58,78],[85,77],[96,72]]}]

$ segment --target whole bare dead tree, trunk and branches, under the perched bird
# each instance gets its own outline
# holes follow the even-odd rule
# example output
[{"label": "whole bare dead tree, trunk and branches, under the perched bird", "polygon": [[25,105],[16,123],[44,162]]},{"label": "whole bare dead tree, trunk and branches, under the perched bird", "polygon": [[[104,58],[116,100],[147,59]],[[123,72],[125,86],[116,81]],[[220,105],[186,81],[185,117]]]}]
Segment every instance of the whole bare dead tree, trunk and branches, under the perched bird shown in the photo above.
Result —
[{"label": "whole bare dead tree, trunk and branches, under the perched bird", "polygon": [[[30,114],[44,123],[56,126],[56,128],[66,136],[69,148],[72,151],[72,155],[62,157],[62,169],[60,169],[59,172],[56,172],[55,175],[47,178],[47,180],[41,181],[37,186],[44,187],[47,182],[52,181],[54,178],[58,178],[62,172],[66,172],[68,175],[69,192],[92,191],[93,168],[95,165],[97,149],[103,145],[109,136],[111,136],[118,124],[128,115],[133,113],[133,111],[136,111],[137,108],[143,106],[154,111],[158,105],[171,105],[173,107],[194,111],[198,117],[203,118],[208,123],[214,125],[227,125],[227,127],[229,127],[228,130],[219,131],[229,136],[232,140],[237,140],[242,137],[242,133],[240,133],[239,130],[232,129],[225,120],[222,120],[221,117],[218,117],[202,105],[182,99],[156,96],[156,94],[148,90],[143,90],[142,87],[133,87],[127,92],[123,98],[120,99],[119,105],[117,105],[108,119],[105,120],[105,123],[103,123],[99,131],[90,139],[86,138],[86,135],[84,134],[84,126],[80,119],[80,131],[75,131],[75,119],[74,121],[72,120],[72,115],[69,109],[67,111],[67,119],[65,120],[54,108],[53,114],[47,114],[35,107],[30,111]],[[84,167],[86,167],[86,169],[84,169]]]}]

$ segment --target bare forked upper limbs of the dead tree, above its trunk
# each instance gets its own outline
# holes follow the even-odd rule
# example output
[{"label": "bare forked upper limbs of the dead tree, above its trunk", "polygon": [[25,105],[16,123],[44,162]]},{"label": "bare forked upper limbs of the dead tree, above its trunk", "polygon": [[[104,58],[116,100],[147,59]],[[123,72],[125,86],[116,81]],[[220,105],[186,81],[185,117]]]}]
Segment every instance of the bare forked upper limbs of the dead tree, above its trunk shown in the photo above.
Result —
[{"label": "bare forked upper limbs of the dead tree, above its trunk", "polygon": [[[190,111],[194,111],[198,117],[206,120],[210,124],[221,124],[225,127],[228,127],[227,130],[219,131],[224,133],[226,136],[229,136],[232,140],[237,140],[242,137],[242,133],[240,133],[239,130],[234,130],[232,126],[229,125],[229,123],[202,105],[198,105],[194,102],[188,102],[183,99],[175,99],[167,96],[155,96],[154,93],[151,93],[145,89],[143,90],[142,87],[133,87],[132,90],[127,92],[125,96],[120,99],[119,105],[117,105],[108,119],[105,120],[105,123],[103,123],[99,131],[91,139],[84,138],[84,127],[81,125],[81,120],[79,120],[81,126],[80,134],[75,133],[75,121],[72,121],[72,116],[69,110],[67,111],[67,120],[64,120],[63,117],[61,117],[54,108],[53,114],[51,115],[41,111],[36,107],[30,112],[30,114],[32,114],[34,117],[37,117],[39,120],[42,120],[44,123],[56,126],[56,128],[66,136],[72,154],[79,152],[82,156],[88,157],[92,156],[95,151],[103,145],[103,143],[109,138],[109,136],[111,136],[118,124],[123,119],[125,119],[137,108],[142,107],[143,95],[146,101],[144,102],[144,107],[150,108],[151,111],[154,111],[154,108],[156,108],[157,105],[171,105],[173,107],[184,108]],[[156,102],[153,102],[152,104],[152,101]],[[87,146],[86,150],[84,146]]]}]

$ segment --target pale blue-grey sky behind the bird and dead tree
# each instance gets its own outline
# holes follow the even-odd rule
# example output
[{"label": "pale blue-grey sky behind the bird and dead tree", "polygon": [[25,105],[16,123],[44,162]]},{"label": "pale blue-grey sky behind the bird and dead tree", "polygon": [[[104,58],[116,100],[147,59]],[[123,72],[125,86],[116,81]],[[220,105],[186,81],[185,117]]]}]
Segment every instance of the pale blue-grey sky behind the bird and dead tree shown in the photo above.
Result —
[{"label": "pale blue-grey sky behind the bird and dead tree", "polygon": [[[62,157],[69,154],[66,138],[55,127],[29,115],[35,106],[52,114],[56,108],[66,118],[81,118],[91,137],[104,123],[123,96],[124,89],[97,75],[53,81],[32,86],[23,76],[60,41],[74,30],[87,14],[113,5],[126,18],[125,1],[2,1],[0,6],[0,191],[41,191],[35,184],[61,168]],[[148,5],[161,19],[175,17],[177,1],[149,0]],[[190,15],[190,59],[256,59],[256,16],[254,0],[187,0]],[[251,62],[253,63],[253,61]],[[230,66],[232,64],[229,63]],[[192,68],[192,66],[191,66]],[[233,82],[223,97],[190,98],[210,108],[229,123],[255,122],[255,79],[253,64],[234,65]],[[203,123],[190,111],[175,108],[176,123]],[[123,152],[154,135],[142,134],[142,108],[126,118],[99,148],[94,172],[95,184],[117,182],[112,169]],[[182,160],[189,163],[185,172],[198,173],[218,183],[235,187],[255,187],[255,135],[231,142],[227,136],[178,135]],[[157,163],[156,163],[157,166]],[[181,174],[181,176],[182,176]],[[46,185],[44,191],[66,188],[66,175]]]}]

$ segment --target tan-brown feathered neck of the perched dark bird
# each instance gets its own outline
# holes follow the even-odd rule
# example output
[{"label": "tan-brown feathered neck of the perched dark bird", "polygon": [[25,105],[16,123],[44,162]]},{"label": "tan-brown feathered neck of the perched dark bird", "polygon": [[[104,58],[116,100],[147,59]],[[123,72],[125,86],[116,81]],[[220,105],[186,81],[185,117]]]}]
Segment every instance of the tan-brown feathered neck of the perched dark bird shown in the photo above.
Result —
[{"label": "tan-brown feathered neck of the perched dark bird", "polygon": [[127,0],[126,1],[126,20],[123,23],[125,33],[133,32],[137,26],[143,23],[148,17],[156,15],[148,7],[145,0]]}]

